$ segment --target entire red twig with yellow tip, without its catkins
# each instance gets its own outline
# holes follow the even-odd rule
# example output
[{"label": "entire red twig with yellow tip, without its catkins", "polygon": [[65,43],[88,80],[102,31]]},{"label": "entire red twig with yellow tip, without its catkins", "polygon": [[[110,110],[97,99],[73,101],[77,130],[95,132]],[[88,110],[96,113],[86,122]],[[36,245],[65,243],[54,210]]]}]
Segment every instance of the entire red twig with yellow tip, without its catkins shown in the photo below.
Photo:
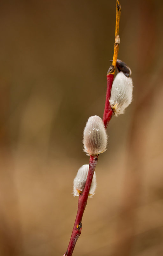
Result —
[{"label": "entire red twig with yellow tip, without its catkins", "polygon": [[[105,128],[107,128],[108,123],[113,115],[113,111],[112,111],[110,103],[109,103],[109,98],[110,98],[110,90],[111,90],[111,87],[113,84],[113,78],[114,78],[114,74],[115,74],[118,49],[119,49],[119,43],[120,43],[120,38],[118,35],[120,13],[121,13],[121,6],[119,4],[119,1],[117,1],[116,2],[116,32],[115,32],[115,43],[114,43],[114,55],[113,55],[112,65],[109,69],[109,73],[107,74],[107,93],[106,93],[105,108],[104,108],[104,113],[103,113],[103,123],[104,123]],[[79,195],[78,210],[77,210],[77,215],[76,215],[76,219],[75,219],[75,223],[74,223],[74,228],[73,228],[70,242],[69,242],[69,245],[67,248],[67,252],[63,256],[71,256],[72,255],[72,253],[74,251],[75,244],[77,242],[77,239],[79,238],[79,236],[81,234],[82,216],[83,216],[85,207],[87,205],[89,190],[90,190],[90,186],[92,183],[92,179],[93,179],[93,175],[95,172],[97,161],[98,161],[98,155],[90,156],[89,172],[87,175],[87,181],[86,181],[83,192]]]}]

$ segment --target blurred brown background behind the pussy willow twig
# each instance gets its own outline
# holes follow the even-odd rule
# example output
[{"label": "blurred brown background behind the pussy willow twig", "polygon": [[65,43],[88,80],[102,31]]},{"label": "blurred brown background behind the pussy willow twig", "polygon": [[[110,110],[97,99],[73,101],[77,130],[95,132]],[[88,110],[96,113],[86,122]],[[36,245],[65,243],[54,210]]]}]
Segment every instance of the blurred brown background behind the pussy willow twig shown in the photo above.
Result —
[{"label": "blurred brown background behind the pussy willow twig", "polygon": [[[163,2],[121,0],[118,58],[133,102],[107,129],[73,255],[163,255]],[[62,256],[103,116],[116,1],[0,1],[0,256]]]}]

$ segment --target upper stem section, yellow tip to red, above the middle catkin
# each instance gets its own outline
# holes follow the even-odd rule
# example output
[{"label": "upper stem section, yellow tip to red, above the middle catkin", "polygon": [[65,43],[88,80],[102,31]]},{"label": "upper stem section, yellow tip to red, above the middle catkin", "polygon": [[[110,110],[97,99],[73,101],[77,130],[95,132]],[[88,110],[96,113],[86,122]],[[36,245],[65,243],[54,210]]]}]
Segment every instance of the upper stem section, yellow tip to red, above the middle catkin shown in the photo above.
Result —
[{"label": "upper stem section, yellow tip to red, above the middle catkin", "polygon": [[117,57],[118,57],[118,50],[119,50],[119,44],[120,44],[120,37],[118,35],[119,33],[119,21],[120,21],[120,15],[121,15],[121,5],[119,1],[116,2],[116,32],[115,32],[115,43],[114,43],[114,54],[113,54],[113,62],[110,66],[107,74],[107,91],[106,91],[106,100],[105,100],[105,108],[103,112],[103,123],[105,128],[107,128],[108,123],[112,116],[114,115],[114,112],[110,106],[110,93],[111,88],[113,84],[114,74],[116,70],[116,64],[117,64]]}]

